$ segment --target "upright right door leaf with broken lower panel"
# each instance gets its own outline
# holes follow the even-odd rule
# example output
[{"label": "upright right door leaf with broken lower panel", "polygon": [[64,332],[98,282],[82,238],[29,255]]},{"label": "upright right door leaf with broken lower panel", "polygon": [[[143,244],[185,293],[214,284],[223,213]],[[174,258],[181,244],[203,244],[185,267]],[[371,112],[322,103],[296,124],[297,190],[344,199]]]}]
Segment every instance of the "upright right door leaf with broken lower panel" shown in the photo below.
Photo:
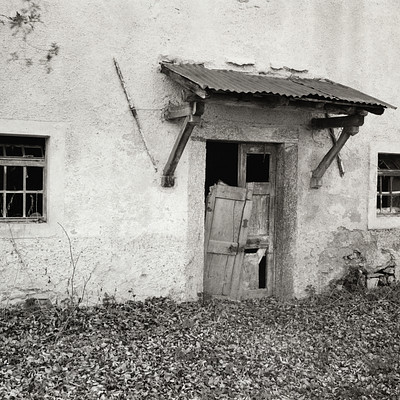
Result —
[{"label": "upright right door leaf with broken lower panel", "polygon": [[[238,185],[253,186],[253,208],[246,242],[245,264],[255,263],[250,274],[259,274],[259,263],[265,255],[264,282],[250,276],[248,289],[254,297],[272,295],[274,288],[274,220],[276,149],[267,144],[239,146]],[[257,252],[258,256],[254,255]],[[261,255],[261,257],[260,257]],[[254,282],[257,285],[254,285]],[[258,287],[257,287],[258,286]],[[259,290],[260,289],[260,290]],[[252,297],[252,296],[250,296]]]}]

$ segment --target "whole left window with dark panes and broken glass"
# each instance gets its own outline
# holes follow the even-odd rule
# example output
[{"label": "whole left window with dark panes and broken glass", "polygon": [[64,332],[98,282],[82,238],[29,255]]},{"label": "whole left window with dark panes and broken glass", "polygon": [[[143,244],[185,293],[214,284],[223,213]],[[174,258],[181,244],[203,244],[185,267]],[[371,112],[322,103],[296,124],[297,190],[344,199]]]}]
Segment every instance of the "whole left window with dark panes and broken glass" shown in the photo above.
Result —
[{"label": "whole left window with dark panes and broken glass", "polygon": [[45,176],[45,138],[0,136],[0,221],[45,221]]}]

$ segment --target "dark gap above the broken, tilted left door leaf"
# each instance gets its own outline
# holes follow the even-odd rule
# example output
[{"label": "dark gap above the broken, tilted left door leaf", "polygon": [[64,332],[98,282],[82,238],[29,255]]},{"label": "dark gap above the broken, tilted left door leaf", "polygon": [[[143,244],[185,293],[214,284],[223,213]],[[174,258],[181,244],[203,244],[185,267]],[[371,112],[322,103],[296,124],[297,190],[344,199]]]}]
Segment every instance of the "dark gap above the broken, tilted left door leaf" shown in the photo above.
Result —
[{"label": "dark gap above the broken, tilted left door leaf", "polygon": [[210,187],[222,181],[229,186],[238,185],[238,144],[207,141],[205,197]]}]

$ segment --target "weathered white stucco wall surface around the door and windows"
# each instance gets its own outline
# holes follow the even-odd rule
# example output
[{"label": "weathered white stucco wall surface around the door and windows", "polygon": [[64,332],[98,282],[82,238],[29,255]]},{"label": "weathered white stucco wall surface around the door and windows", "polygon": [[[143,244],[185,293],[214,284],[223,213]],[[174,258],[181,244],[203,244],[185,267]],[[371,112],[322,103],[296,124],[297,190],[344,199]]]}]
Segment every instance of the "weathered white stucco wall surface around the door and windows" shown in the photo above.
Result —
[{"label": "weathered white stucco wall surface around the door and windows", "polygon": [[[2,4],[0,12],[11,13],[19,4]],[[118,299],[134,294],[182,300],[194,299],[202,291],[205,145],[191,141],[178,166],[176,186],[160,187],[161,170],[180,127],[162,119],[162,109],[179,100],[180,89],[159,73],[160,60],[281,76],[304,71],[298,74],[327,77],[400,104],[396,0],[48,0],[42,5],[45,24],[28,37],[29,44],[0,26],[0,119],[64,127],[63,212],[51,223],[62,224],[74,253],[81,254],[78,290],[91,274],[89,302],[100,301],[105,292]],[[7,61],[15,51],[35,61],[41,53],[31,45],[51,42],[60,46],[51,73],[37,62],[27,67],[23,61]],[[128,109],[113,57],[138,109],[157,172]],[[247,111],[242,117],[237,110],[218,112],[226,113],[226,121],[219,122],[226,135],[231,135],[232,114],[238,119],[235,125],[246,124],[249,118]],[[254,118],[256,124],[265,123],[260,115]],[[323,287],[337,276],[340,252],[387,240],[380,232],[372,237],[367,231],[369,143],[396,138],[399,118],[392,110],[367,116],[342,152],[345,177],[341,179],[332,165],[319,190],[309,189],[309,178],[330,139],[324,132],[296,128],[296,295],[308,283]],[[205,136],[213,129],[205,124]],[[247,140],[259,139],[254,134]],[[29,228],[29,234],[13,225],[1,229],[3,302],[35,292],[52,298],[65,295],[68,241],[54,226],[51,235],[41,235],[40,226],[38,232]],[[336,246],[344,231],[352,232],[349,237],[368,237]],[[393,248],[396,233],[389,236],[386,244]],[[377,254],[382,246],[386,245],[376,246]],[[372,252],[371,257],[377,258]]]}]

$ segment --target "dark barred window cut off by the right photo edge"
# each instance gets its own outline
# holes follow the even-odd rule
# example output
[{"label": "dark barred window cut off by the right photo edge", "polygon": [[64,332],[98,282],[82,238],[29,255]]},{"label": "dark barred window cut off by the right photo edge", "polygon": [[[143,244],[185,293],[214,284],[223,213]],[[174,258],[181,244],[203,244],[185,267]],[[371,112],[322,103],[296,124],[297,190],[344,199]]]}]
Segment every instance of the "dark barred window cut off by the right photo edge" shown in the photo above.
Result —
[{"label": "dark barred window cut off by the right photo edge", "polygon": [[400,154],[378,154],[378,214],[400,213]]}]

